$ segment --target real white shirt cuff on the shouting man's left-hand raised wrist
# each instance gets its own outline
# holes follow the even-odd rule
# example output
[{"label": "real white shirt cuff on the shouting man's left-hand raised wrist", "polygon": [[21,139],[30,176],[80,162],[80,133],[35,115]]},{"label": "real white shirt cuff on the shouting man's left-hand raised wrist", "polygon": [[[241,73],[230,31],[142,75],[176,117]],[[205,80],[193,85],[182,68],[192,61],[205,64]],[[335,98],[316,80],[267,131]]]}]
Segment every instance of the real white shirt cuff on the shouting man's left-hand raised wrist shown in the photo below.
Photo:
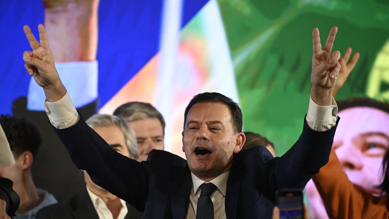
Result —
[{"label": "real white shirt cuff on the shouting man's left-hand raised wrist", "polygon": [[68,92],[57,102],[45,102],[45,111],[51,125],[56,129],[66,129],[80,120]]}]

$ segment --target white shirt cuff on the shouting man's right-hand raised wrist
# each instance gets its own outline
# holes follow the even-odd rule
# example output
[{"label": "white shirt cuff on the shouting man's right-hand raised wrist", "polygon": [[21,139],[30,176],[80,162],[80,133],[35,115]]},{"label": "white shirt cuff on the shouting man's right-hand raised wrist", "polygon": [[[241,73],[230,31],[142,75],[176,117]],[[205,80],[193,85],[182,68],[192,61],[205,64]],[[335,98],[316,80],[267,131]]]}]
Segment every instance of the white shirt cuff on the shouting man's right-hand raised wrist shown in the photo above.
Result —
[{"label": "white shirt cuff on the shouting man's right-hand raised wrist", "polygon": [[331,106],[319,106],[309,98],[309,107],[306,117],[308,126],[315,131],[326,131],[335,126],[338,116],[338,105],[332,98]]}]

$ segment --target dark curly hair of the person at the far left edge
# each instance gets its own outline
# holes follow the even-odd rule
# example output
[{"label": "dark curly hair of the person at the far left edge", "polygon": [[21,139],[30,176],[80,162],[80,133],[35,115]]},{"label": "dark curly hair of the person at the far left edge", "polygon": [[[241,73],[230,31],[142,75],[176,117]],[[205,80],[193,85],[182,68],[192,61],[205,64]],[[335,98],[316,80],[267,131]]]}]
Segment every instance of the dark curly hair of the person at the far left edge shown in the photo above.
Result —
[{"label": "dark curly hair of the person at the far left edge", "polygon": [[42,136],[38,128],[24,118],[12,117],[11,115],[1,115],[0,124],[14,155],[19,157],[28,150],[35,159],[42,143]]}]

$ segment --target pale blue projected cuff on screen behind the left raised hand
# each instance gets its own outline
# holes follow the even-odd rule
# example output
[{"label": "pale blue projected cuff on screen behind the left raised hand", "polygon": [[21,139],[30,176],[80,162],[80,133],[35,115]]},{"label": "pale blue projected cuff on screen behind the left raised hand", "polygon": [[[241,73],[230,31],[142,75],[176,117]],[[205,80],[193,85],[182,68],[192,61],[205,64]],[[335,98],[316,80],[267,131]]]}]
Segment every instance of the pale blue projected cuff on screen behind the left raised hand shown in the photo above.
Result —
[{"label": "pale blue projected cuff on screen behind the left raised hand", "polygon": [[[98,97],[98,62],[63,62],[55,67],[63,85],[74,99],[76,108],[85,106]],[[82,94],[82,95],[80,95]],[[46,96],[43,89],[31,77],[28,87],[27,109],[43,111]]]}]

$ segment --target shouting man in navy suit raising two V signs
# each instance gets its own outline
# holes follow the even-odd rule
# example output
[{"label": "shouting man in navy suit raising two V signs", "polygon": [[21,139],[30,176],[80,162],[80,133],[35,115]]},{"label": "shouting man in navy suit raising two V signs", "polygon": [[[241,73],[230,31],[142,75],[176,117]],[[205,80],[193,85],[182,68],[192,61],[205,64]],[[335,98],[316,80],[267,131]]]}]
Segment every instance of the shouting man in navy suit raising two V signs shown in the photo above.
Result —
[{"label": "shouting man in navy suit raising two V signs", "polygon": [[203,93],[184,115],[187,160],[152,150],[143,162],[116,153],[85,124],[58,77],[43,25],[40,43],[23,28],[33,49],[23,54],[26,70],[43,87],[47,115],[72,161],[144,218],[270,218],[277,189],[304,187],[328,161],[338,121],[331,96],[340,69],[340,52],[331,53],[336,27],[324,49],[319,30],[313,31],[310,106],[299,140],[282,157],[263,146],[241,151],[239,106],[222,94]]}]

